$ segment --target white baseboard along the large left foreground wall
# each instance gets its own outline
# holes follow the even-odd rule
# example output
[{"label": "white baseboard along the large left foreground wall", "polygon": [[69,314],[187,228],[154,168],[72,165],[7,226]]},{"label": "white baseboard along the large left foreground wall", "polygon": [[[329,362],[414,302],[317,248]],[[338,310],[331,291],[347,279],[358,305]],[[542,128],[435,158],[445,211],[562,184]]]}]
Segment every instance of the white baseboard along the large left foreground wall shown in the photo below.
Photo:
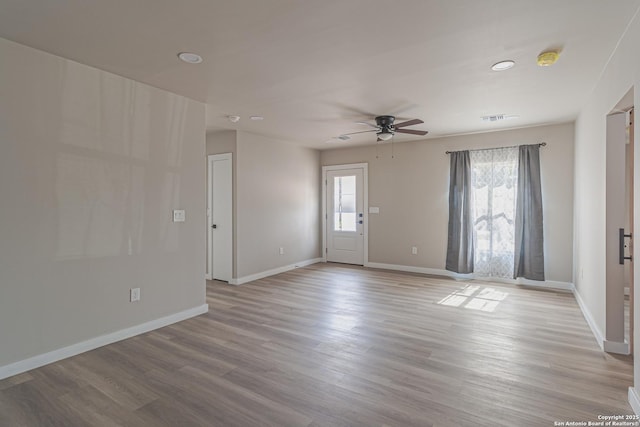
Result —
[{"label": "white baseboard along the large left foreground wall", "polygon": [[0,380],[17,374],[21,374],[26,371],[30,371],[31,369],[48,365],[49,363],[57,362],[58,360],[66,359],[67,357],[94,350],[107,344],[112,344],[114,342],[122,341],[136,335],[144,334],[145,332],[162,328],[163,326],[171,325],[172,323],[199,316],[206,313],[207,311],[209,311],[209,305],[203,304],[201,306],[170,314],[168,316],[151,320],[140,325],[112,332],[110,334],[101,335],[99,337],[91,338],[77,344],[72,344],[70,346],[39,354],[28,359],[0,366]]}]

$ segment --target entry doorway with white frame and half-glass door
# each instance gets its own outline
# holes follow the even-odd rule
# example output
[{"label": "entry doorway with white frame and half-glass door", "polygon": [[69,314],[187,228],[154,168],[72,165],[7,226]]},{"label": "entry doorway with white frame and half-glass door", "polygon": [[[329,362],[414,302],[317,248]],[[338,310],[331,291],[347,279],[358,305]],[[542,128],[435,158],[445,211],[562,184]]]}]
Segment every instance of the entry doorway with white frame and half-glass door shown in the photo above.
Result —
[{"label": "entry doorway with white frame and half-glass door", "polygon": [[355,265],[367,262],[367,166],[361,163],[322,168],[326,261]]}]

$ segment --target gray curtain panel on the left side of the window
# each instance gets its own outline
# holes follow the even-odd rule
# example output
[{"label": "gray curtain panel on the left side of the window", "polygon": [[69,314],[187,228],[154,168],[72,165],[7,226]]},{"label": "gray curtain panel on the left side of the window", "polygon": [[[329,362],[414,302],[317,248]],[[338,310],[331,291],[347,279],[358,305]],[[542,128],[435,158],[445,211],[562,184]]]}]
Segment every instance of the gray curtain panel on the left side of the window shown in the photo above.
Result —
[{"label": "gray curtain panel on the left side of the window", "polygon": [[471,160],[469,151],[456,151],[450,156],[446,269],[456,273],[472,273]]}]

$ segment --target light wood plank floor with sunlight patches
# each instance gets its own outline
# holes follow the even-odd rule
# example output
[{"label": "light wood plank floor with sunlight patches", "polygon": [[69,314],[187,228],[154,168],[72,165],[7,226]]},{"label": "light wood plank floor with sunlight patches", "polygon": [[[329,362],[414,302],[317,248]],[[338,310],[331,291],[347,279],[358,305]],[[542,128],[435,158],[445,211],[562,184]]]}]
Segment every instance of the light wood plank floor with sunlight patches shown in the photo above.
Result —
[{"label": "light wood plank floor with sunlight patches", "polygon": [[632,413],[631,358],[598,348],[569,293],[316,264],[209,282],[207,302],[208,314],[0,381],[0,425],[552,426]]}]

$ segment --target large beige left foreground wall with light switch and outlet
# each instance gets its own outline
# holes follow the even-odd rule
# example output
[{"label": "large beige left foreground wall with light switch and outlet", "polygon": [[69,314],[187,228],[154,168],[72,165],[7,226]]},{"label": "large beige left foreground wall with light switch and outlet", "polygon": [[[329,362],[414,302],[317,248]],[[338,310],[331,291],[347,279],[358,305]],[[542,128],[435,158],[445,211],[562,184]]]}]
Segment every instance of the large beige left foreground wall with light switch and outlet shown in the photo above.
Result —
[{"label": "large beige left foreground wall with light switch and outlet", "polygon": [[204,105],[3,39],[0,58],[0,368],[204,305]]}]

